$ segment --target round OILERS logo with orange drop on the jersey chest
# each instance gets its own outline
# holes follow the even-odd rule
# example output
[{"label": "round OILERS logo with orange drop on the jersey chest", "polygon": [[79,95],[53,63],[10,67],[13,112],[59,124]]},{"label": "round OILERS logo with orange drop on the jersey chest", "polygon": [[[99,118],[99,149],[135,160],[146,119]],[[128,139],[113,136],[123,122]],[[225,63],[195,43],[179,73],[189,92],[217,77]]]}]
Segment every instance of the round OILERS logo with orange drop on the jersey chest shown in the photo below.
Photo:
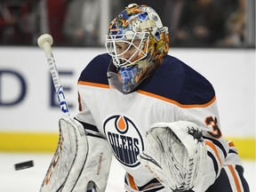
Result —
[{"label": "round OILERS logo with orange drop on the jersey chest", "polygon": [[104,133],[116,159],[125,166],[140,164],[137,156],[144,149],[141,134],[126,116],[110,116],[103,125]]}]

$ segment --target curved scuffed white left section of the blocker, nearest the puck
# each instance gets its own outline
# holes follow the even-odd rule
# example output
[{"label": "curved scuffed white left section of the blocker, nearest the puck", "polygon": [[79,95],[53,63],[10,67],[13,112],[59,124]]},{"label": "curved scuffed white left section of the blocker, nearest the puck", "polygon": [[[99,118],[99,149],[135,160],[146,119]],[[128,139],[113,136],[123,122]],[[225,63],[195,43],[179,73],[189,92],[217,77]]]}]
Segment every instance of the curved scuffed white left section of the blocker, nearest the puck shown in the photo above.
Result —
[{"label": "curved scuffed white left section of the blocker, nearest the puck", "polygon": [[[62,116],[59,128],[59,144],[44,177],[41,192],[61,191],[67,180],[75,184],[87,156],[88,142],[83,125],[71,116]],[[72,188],[69,189],[71,191]]]}]

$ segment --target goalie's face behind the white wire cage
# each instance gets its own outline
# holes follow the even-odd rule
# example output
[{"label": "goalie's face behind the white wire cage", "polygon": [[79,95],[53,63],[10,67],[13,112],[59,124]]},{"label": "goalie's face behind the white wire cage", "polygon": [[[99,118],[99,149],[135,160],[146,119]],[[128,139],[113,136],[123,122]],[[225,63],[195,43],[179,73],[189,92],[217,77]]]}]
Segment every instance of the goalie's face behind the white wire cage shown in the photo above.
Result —
[{"label": "goalie's face behind the white wire cage", "polygon": [[123,62],[130,60],[130,62],[136,60],[139,55],[138,47],[140,40],[134,40],[132,44],[130,42],[116,42],[116,53],[118,58]]}]

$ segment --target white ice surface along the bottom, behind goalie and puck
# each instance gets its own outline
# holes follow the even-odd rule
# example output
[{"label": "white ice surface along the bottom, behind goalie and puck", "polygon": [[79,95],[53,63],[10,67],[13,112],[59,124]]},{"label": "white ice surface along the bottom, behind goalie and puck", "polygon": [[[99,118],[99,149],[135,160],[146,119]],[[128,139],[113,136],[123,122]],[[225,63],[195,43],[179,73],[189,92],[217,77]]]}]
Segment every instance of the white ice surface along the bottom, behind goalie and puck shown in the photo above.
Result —
[{"label": "white ice surface along the bottom, behind goalie and puck", "polygon": [[[15,171],[14,164],[33,160],[34,166]],[[0,192],[36,192],[39,191],[45,172],[52,160],[51,154],[0,153]],[[244,177],[251,192],[256,191],[255,161],[243,161]],[[124,191],[124,170],[113,158],[106,192]]]}]

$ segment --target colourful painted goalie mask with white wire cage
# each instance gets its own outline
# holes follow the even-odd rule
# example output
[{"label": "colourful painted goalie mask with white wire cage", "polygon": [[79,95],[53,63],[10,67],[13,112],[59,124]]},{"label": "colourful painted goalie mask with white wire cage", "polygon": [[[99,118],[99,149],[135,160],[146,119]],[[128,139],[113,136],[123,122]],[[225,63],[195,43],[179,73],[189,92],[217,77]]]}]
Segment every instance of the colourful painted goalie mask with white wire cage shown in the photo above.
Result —
[{"label": "colourful painted goalie mask with white wire cage", "polygon": [[110,23],[105,45],[112,57],[109,85],[129,93],[162,63],[169,51],[168,28],[151,7],[129,4]]}]

